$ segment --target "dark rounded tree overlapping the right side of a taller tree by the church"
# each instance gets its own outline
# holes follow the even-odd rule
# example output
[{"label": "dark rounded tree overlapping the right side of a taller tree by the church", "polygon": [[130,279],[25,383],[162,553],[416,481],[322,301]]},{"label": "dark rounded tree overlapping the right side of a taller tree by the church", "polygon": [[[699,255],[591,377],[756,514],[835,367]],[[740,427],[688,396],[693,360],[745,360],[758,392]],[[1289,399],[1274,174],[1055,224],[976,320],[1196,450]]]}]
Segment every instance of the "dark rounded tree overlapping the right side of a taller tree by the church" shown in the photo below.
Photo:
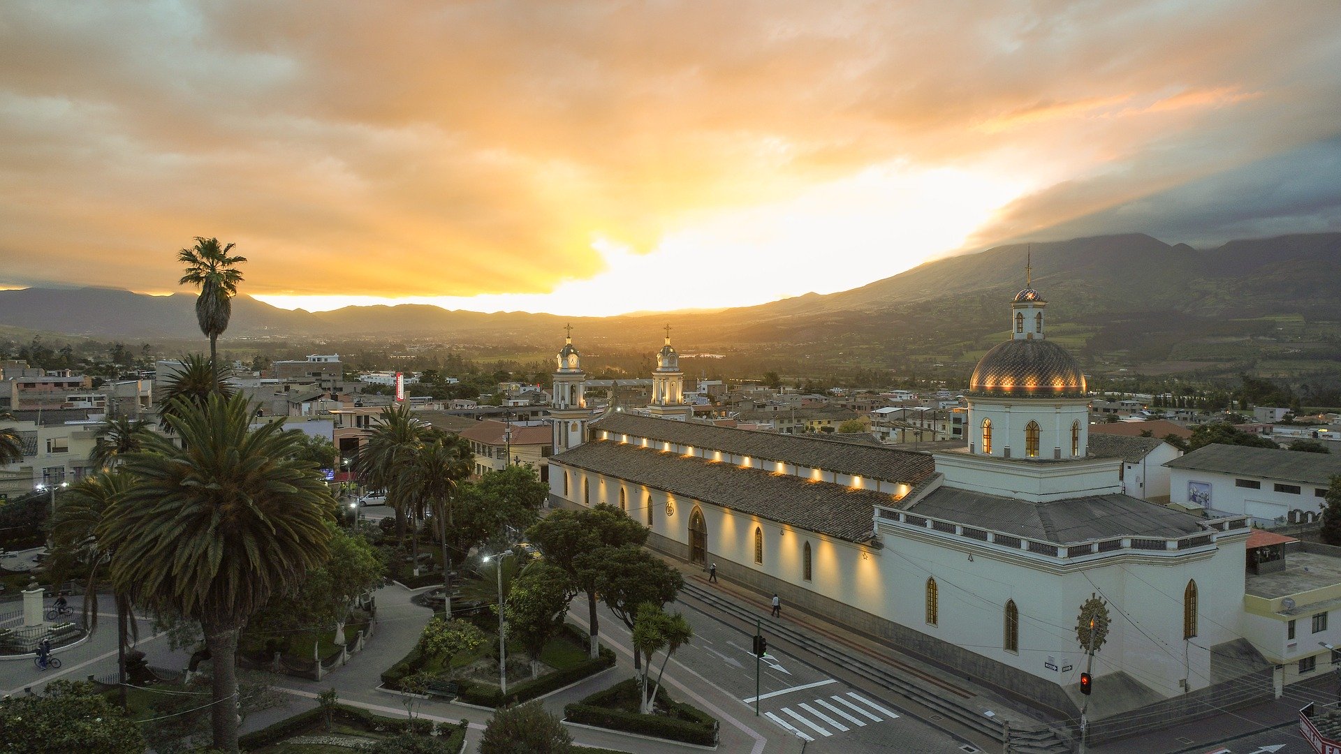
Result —
[{"label": "dark rounded tree overlapping the right side of a taller tree by the church", "polygon": [[[684,576],[641,547],[601,547],[577,558],[578,569],[597,572],[595,589],[605,606],[633,631],[644,602],[665,606],[684,588]],[[633,648],[633,668],[641,668],[641,652]]]}]

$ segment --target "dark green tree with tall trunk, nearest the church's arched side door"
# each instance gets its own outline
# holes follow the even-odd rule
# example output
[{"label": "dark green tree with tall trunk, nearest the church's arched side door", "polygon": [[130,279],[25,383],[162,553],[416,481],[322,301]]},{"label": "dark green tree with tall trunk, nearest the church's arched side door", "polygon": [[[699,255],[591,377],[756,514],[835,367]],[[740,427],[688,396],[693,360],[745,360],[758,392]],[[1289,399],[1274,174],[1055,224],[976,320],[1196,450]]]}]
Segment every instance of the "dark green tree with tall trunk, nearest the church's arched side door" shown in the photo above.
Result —
[{"label": "dark green tree with tall trunk, nearest the church's arched side door", "polygon": [[[587,620],[591,631],[591,657],[599,656],[599,623],[597,612],[597,581],[599,563],[579,562],[583,553],[598,547],[641,547],[648,541],[648,530],[614,506],[598,504],[583,510],[557,510],[526,533],[544,553],[547,562],[569,574],[573,585],[587,596]],[[590,568],[587,568],[590,566]]]}]

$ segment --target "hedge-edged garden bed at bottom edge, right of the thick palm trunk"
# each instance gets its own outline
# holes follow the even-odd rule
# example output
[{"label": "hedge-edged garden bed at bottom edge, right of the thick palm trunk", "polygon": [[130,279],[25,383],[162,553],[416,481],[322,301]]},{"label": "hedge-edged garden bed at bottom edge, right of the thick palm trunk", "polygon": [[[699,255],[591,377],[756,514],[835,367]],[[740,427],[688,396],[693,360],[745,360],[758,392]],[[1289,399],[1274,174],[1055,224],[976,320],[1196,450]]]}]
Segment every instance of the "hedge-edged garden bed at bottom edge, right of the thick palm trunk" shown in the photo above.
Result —
[{"label": "hedge-edged garden bed at bottom edge, right of the thick palm trunk", "polygon": [[[334,724],[331,726],[330,733],[341,737],[367,738],[369,741],[390,738],[406,731],[420,733],[424,735],[436,733],[439,741],[443,742],[444,750],[457,751],[461,749],[461,742],[465,739],[464,723],[465,720],[461,720],[460,723],[443,722],[434,724],[433,720],[418,718],[412,726],[410,720],[405,718],[386,718],[382,715],[374,715],[373,712],[358,707],[337,704],[334,711]],[[295,743],[292,746],[283,746],[283,742],[291,738],[307,735],[319,737],[326,733],[326,722],[322,716],[322,710],[320,707],[316,707],[279,720],[270,727],[243,735],[237,741],[237,747],[243,751],[264,750],[278,753],[292,750],[298,746],[325,746],[319,743]],[[351,749],[345,749],[345,751],[351,751]]]}]

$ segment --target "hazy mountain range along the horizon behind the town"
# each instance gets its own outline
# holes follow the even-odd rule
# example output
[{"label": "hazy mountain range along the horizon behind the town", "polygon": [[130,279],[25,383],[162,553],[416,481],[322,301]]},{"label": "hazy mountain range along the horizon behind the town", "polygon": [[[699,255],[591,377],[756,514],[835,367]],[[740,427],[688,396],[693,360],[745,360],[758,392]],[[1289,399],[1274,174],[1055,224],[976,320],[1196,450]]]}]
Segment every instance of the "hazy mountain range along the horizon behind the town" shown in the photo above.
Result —
[{"label": "hazy mountain range along the horizon behind the town", "polygon": [[[1177,360],[1179,343],[1193,341],[1266,337],[1285,342],[1278,333],[1286,329],[1273,326],[1277,322],[1290,322],[1289,331],[1299,335],[1295,352],[1311,354],[1322,345],[1329,346],[1328,353],[1336,352],[1328,323],[1341,321],[1341,233],[1234,240],[1210,250],[1171,246],[1143,233],[999,246],[928,262],[849,291],[712,313],[566,318],[422,305],[308,313],[239,295],[225,338],[552,345],[562,337],[562,326],[571,322],[589,343],[654,349],[661,327],[670,322],[681,349],[813,343],[843,352],[854,362],[900,354],[953,361],[970,358],[1003,337],[1007,302],[1025,284],[1026,258],[1033,266],[1033,286],[1051,302],[1054,333],[1092,357],[1126,353],[1137,361]],[[193,294],[152,297],[99,287],[9,290],[0,291],[0,325],[103,339],[196,338],[193,305]],[[1295,327],[1299,322],[1306,325],[1302,333]]]}]

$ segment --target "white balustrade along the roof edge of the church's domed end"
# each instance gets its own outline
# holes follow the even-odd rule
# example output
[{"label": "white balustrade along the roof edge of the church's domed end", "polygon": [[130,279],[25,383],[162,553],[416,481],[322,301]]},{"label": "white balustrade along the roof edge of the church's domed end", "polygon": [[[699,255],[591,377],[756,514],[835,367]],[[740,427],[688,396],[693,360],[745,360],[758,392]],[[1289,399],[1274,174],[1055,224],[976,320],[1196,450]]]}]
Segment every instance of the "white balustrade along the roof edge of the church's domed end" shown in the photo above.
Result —
[{"label": "white balustrade along the roof edge of the church's domed end", "polygon": [[1031,539],[1029,537],[1006,534],[1004,531],[976,529],[955,523],[952,521],[915,515],[894,508],[877,507],[876,518],[880,522],[897,527],[921,529],[952,537],[963,537],[966,539],[974,539],[975,542],[986,542],[1002,550],[1016,550],[1021,553],[1031,553],[1034,555],[1045,555],[1062,561],[1073,561],[1088,555],[1116,553],[1120,550],[1139,551],[1143,554],[1167,553],[1169,555],[1175,555],[1189,550],[1211,547],[1215,545],[1215,541],[1220,534],[1236,533],[1247,529],[1248,526],[1247,517],[1228,517],[1206,522],[1206,525],[1211,529],[1210,531],[1187,534],[1184,537],[1112,537],[1106,539],[1081,542],[1078,545],[1058,546],[1055,542]]}]

